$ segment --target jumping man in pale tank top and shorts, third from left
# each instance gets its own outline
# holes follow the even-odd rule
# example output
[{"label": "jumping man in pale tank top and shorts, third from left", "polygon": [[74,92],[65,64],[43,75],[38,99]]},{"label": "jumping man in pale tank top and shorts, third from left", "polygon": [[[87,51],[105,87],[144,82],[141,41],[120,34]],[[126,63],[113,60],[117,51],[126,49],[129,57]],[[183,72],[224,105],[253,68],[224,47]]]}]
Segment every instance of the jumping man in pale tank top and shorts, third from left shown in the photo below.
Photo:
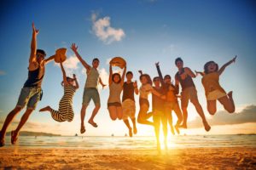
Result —
[{"label": "jumping man in pale tank top and shorts, third from left", "polygon": [[72,44],[71,49],[73,50],[74,54],[76,54],[77,58],[82,63],[82,65],[84,65],[84,68],[86,69],[86,74],[87,74],[87,78],[86,78],[86,82],[85,82],[85,86],[84,86],[82,109],[81,109],[81,128],[80,128],[80,133],[84,133],[85,132],[84,116],[85,116],[86,108],[90,104],[90,99],[93,100],[93,102],[95,104],[95,108],[92,111],[92,114],[91,114],[88,122],[93,127],[97,127],[96,122],[94,122],[94,117],[96,116],[96,114],[98,113],[98,111],[101,107],[101,100],[100,100],[100,95],[97,90],[97,85],[98,85],[98,82],[100,82],[102,84],[103,88],[106,85],[104,85],[102,83],[102,79],[99,78],[100,75],[99,75],[99,72],[97,71],[97,68],[100,64],[100,60],[95,58],[92,60],[92,66],[88,65],[84,61],[84,59],[82,59],[80,54],[78,53],[78,48],[79,47],[76,46],[75,43]]}]

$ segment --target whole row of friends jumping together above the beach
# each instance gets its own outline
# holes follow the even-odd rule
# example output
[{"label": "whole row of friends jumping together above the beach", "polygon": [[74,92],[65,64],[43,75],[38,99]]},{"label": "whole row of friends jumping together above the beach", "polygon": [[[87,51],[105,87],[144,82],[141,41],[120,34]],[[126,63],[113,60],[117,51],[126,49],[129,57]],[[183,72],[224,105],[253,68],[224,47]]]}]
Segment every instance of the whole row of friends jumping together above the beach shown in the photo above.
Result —
[{"label": "whole row of friends jumping together above the beach", "polygon": [[[6,117],[3,127],[0,131],[0,146],[4,145],[4,137],[9,124],[13,121],[14,117],[26,106],[26,111],[21,116],[20,122],[15,130],[11,131],[11,143],[15,144],[21,127],[26,123],[28,117],[32,114],[32,111],[36,109],[38,101],[42,97],[41,84],[44,79],[45,65],[55,59],[55,55],[45,59],[46,53],[42,49],[37,48],[37,36],[38,30],[32,24],[32,42],[31,42],[31,54],[29,58],[28,66],[28,78],[20,91],[20,97],[18,99],[15,109],[9,112]],[[85,132],[84,116],[90,100],[92,99],[95,108],[89,119],[89,123],[93,127],[98,125],[94,122],[94,118],[101,107],[100,95],[97,89],[100,83],[104,88],[106,85],[102,82],[100,74],[97,68],[100,64],[100,60],[95,58],[92,60],[92,64],[89,65],[79,54],[78,46],[73,43],[71,46],[73,53],[79,59],[81,64],[86,69],[86,82],[84,85],[83,103],[81,108],[81,126],[80,133]],[[201,116],[202,124],[206,131],[211,129],[207,122],[204,111],[199,103],[197,91],[193,78],[198,75],[202,76],[201,82],[205,88],[205,94],[207,99],[207,111],[214,115],[217,111],[216,103],[218,102],[224,106],[224,109],[230,113],[235,111],[235,104],[232,98],[232,91],[226,93],[224,88],[219,84],[219,76],[223,73],[224,69],[231,63],[236,61],[236,57],[224,64],[218,69],[218,64],[214,61],[209,61],[204,65],[204,71],[191,71],[189,67],[183,66],[183,59],[175,59],[175,65],[177,66],[177,73],[174,77],[175,83],[172,82],[172,77],[166,75],[163,77],[160,71],[160,63],[155,63],[158,76],[153,78],[143,71],[138,71],[140,74],[139,80],[141,86],[138,88],[137,81],[133,81],[133,72],[126,72],[126,64],[124,65],[122,75],[115,72],[113,73],[113,65],[109,64],[109,97],[108,97],[108,112],[110,118],[115,121],[117,119],[123,120],[126,127],[129,130],[129,136],[137,133],[137,123],[142,123],[154,127],[155,136],[157,139],[157,148],[160,149],[160,122],[162,124],[165,145],[167,142],[167,124],[169,124],[172,134],[179,133],[179,128],[187,128],[188,119],[188,104],[189,101],[195,105],[195,110]],[[72,122],[73,113],[73,96],[76,90],[79,88],[76,75],[73,77],[67,77],[66,71],[61,61],[61,72],[63,81],[61,82],[64,88],[64,95],[59,103],[58,111],[55,111],[49,105],[40,109],[39,111],[49,111],[52,118],[57,122]],[[126,77],[126,81],[125,81]],[[181,94],[179,95],[179,87],[181,86]],[[122,94],[122,98],[121,98]],[[136,100],[135,94],[139,95],[139,112],[136,117]],[[148,94],[152,94],[152,111],[148,112],[149,102]],[[178,100],[181,100],[179,105]],[[177,122],[173,126],[172,124],[172,111],[176,113]],[[148,119],[153,116],[153,122]],[[132,122],[132,127],[129,122],[129,118]]]}]

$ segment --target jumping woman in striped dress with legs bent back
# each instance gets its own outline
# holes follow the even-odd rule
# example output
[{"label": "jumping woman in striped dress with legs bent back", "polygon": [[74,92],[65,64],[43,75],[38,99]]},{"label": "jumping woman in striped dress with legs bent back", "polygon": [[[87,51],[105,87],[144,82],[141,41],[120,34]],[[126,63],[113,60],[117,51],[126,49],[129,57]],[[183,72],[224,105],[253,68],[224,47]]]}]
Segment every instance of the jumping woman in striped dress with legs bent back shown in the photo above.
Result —
[{"label": "jumping woman in striped dress with legs bent back", "polygon": [[[76,89],[79,88],[79,83],[75,74],[73,74],[73,78],[67,77],[62,62],[60,65],[63,75],[63,81],[61,82],[61,85],[64,87],[64,95],[59,103],[59,111],[53,110],[49,105],[40,109],[39,111],[49,111],[52,118],[57,122],[72,122],[74,116],[73,94],[75,93]],[[75,82],[75,84],[73,84],[73,82]]]}]

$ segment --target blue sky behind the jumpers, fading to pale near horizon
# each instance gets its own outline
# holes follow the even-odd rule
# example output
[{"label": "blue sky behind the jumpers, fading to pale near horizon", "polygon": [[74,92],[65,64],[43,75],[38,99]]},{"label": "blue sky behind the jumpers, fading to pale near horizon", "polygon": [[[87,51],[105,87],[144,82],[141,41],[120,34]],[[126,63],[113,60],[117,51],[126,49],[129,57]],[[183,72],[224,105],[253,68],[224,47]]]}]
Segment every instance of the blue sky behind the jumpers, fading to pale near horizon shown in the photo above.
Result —
[{"label": "blue sky behind the jumpers, fading to pale near horizon", "polygon": [[[75,94],[73,122],[54,122],[49,114],[38,113],[44,105],[58,108],[63,94],[61,69],[58,65],[47,65],[44,77],[44,98],[30,117],[26,130],[61,134],[79,132],[79,111],[81,108],[84,81],[83,67],[74,58],[70,45],[76,42],[79,53],[91,62],[101,60],[99,70],[108,82],[108,60],[123,56],[128,70],[143,69],[152,77],[157,76],[154,63],[160,61],[163,74],[172,77],[177,71],[174,59],[182,57],[184,65],[191,70],[202,70],[203,65],[214,60],[219,65],[238,55],[236,64],[230,65],[221,77],[226,91],[234,91],[236,112],[240,113],[249,105],[256,105],[256,12],[253,1],[2,1],[0,5],[0,124],[15,107],[20,88],[27,78],[28,57],[32,37],[32,21],[39,29],[38,48],[48,55],[55,54],[57,48],[68,48],[68,73],[76,73],[80,88]],[[93,16],[96,18],[93,20]],[[107,27],[102,27],[103,24]],[[98,26],[98,27],[97,27]],[[108,29],[101,30],[101,28]],[[201,105],[208,119],[204,89],[201,78],[195,79]],[[102,109],[96,116],[100,125],[93,128],[87,125],[88,135],[108,135],[126,132],[122,122],[112,122],[108,116],[108,88],[101,89]],[[86,120],[93,108],[91,103]],[[223,108],[218,105],[218,109]],[[138,105],[137,105],[138,111]],[[22,112],[21,112],[22,113]],[[220,114],[220,113],[219,113]],[[228,114],[228,113],[226,113]],[[16,116],[15,123],[20,120]],[[197,114],[189,105],[189,121],[195,121]],[[255,116],[254,116],[255,118]],[[15,123],[10,127],[15,127]],[[231,125],[227,133],[237,133]],[[238,125],[237,125],[238,126]],[[236,127],[237,127],[236,126]],[[244,122],[244,132],[255,132],[255,122]],[[138,135],[153,134],[153,129],[139,126]],[[218,133],[213,127],[211,133]],[[183,131],[191,133],[193,129]],[[201,129],[195,133],[204,133]]]}]

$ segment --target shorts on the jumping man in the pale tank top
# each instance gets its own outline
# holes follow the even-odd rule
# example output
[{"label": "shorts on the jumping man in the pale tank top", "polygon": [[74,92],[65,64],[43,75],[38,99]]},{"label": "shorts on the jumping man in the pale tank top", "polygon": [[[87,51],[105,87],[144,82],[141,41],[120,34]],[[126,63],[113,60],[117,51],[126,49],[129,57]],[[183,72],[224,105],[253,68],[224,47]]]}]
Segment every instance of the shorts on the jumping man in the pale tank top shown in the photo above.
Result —
[{"label": "shorts on the jumping man in the pale tank top", "polygon": [[101,105],[100,95],[96,88],[84,88],[83,104],[88,106],[90,99],[93,100],[94,105]]}]

